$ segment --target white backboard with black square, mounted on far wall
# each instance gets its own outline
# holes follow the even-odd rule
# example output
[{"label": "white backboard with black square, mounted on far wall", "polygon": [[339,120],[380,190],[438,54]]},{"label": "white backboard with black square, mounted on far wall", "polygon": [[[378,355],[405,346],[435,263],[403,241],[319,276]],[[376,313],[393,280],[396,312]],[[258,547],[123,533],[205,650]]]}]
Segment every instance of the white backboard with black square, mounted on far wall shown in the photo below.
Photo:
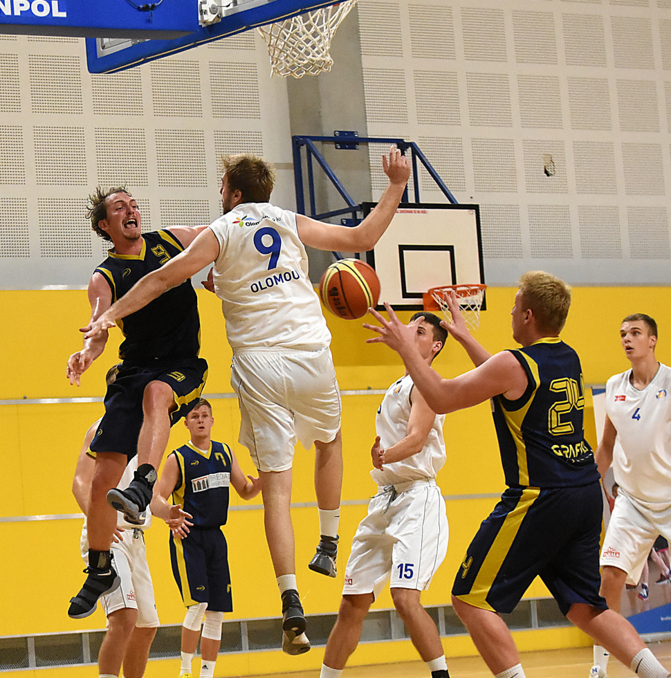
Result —
[{"label": "white backboard with black square, mounted on far wall", "polygon": [[[374,207],[363,203],[364,216]],[[431,287],[484,283],[478,205],[401,203],[367,262],[380,279],[380,302],[394,310],[421,311]]]}]

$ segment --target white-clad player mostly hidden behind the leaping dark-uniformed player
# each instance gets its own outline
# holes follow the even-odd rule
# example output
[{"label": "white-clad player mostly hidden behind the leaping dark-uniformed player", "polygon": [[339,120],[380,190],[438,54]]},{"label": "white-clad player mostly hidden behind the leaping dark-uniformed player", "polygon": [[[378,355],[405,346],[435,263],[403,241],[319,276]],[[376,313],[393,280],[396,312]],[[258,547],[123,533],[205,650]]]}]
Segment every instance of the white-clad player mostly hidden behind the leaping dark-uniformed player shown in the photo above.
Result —
[{"label": "white-clad player mostly hidden behind the leaping dark-uniformed player", "polygon": [[[118,367],[118,366],[116,366]],[[116,367],[107,373],[108,383],[114,381]],[[73,478],[72,491],[84,515],[88,513],[91,495],[91,480],[95,461],[86,452],[98,428],[96,421],[86,432]],[[129,461],[119,482],[126,487],[138,468],[138,458]],[[151,525],[151,513],[147,510],[141,525],[131,525],[117,513],[117,528],[111,547],[114,567],[120,577],[120,585],[99,600],[107,615],[107,633],[98,652],[100,678],[118,677],[123,665],[124,678],[142,678],[149,658],[149,648],[158,628],[158,614],[154,603],[154,588],[147,565],[144,531]],[[82,529],[82,558],[88,562],[89,539],[86,518]]]}]

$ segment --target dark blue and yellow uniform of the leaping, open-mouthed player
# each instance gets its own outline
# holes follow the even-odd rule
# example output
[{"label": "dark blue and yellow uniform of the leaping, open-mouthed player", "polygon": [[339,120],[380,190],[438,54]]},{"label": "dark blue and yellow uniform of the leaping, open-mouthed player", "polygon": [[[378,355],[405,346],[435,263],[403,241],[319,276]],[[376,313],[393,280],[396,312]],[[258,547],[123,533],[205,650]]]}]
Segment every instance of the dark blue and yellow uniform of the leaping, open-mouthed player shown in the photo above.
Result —
[{"label": "dark blue and yellow uniform of the leaping, open-mouthed player", "polygon": [[[184,250],[167,230],[143,235],[139,255],[118,255],[113,250],[96,272],[109,284],[116,302],[140,278],[156,271]],[[116,381],[107,387],[105,414],[91,443],[91,451],[137,454],[142,427],[143,396],[151,381],[163,381],[174,391],[176,409],[171,424],[186,416],[198,402],[208,374],[199,358],[200,320],[196,292],[190,280],[164,292],[145,308],[118,322],[124,340],[123,360]]]}]

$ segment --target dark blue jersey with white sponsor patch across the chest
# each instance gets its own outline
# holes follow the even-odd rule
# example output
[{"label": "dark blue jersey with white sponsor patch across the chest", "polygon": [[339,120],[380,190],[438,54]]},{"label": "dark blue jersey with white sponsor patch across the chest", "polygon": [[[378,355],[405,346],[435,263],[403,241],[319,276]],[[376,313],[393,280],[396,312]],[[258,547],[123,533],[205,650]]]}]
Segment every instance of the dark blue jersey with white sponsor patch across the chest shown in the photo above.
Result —
[{"label": "dark blue jersey with white sponsor patch across the chest", "polygon": [[179,467],[172,503],[193,516],[194,527],[225,525],[232,464],[228,445],[212,441],[205,455],[189,441],[172,454]]}]

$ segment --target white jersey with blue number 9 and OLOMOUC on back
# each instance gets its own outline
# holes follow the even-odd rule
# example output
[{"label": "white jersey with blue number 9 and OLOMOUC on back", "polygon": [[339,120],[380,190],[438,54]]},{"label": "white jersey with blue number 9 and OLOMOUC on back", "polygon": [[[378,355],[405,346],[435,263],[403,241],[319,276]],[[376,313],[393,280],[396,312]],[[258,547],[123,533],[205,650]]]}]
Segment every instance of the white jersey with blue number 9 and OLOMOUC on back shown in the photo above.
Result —
[{"label": "white jersey with blue number 9 and OLOMOUC on back", "polygon": [[214,288],[234,353],[329,346],[331,333],[308,277],[294,212],[270,203],[243,203],[210,229],[219,241]]}]

